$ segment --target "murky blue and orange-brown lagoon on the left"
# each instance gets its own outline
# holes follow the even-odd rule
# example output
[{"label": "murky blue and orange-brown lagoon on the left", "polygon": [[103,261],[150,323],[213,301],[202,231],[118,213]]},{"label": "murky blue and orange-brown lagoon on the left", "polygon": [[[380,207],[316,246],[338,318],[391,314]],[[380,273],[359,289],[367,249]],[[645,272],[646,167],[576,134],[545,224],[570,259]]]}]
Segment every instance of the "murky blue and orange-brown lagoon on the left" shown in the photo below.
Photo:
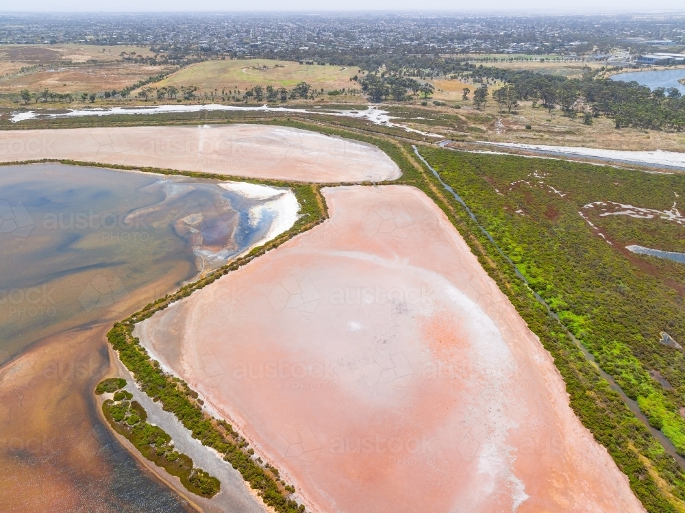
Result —
[{"label": "murky blue and orange-brown lagoon on the left", "polygon": [[258,241],[255,205],[186,177],[0,167],[1,510],[188,510],[99,421],[103,334]]}]

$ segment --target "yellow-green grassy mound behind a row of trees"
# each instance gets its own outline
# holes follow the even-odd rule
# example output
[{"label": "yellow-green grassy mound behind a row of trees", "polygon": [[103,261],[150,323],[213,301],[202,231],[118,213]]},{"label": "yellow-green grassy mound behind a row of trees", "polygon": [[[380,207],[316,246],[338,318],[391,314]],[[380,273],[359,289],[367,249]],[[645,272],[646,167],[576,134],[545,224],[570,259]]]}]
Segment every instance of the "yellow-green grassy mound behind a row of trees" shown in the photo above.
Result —
[{"label": "yellow-green grassy mound behind a row of trees", "polygon": [[315,88],[332,90],[349,88],[352,84],[356,86],[356,82],[350,82],[349,79],[357,71],[357,68],[343,66],[266,59],[210,60],[192,64],[157,86],[197,86],[199,92],[210,92],[223,88],[245,91],[257,85],[292,88],[300,82],[307,82]]}]

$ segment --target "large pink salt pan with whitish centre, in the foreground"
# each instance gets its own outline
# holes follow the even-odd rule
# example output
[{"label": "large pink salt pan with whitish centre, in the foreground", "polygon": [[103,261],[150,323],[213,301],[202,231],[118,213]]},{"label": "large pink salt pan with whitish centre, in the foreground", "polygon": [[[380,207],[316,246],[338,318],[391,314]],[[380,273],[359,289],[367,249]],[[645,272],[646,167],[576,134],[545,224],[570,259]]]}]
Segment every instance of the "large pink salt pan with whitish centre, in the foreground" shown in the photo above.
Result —
[{"label": "large pink salt pan with whitish centre, in the foreground", "polygon": [[331,218],[139,325],[317,512],[637,512],[552,359],[406,186],[325,189]]}]

